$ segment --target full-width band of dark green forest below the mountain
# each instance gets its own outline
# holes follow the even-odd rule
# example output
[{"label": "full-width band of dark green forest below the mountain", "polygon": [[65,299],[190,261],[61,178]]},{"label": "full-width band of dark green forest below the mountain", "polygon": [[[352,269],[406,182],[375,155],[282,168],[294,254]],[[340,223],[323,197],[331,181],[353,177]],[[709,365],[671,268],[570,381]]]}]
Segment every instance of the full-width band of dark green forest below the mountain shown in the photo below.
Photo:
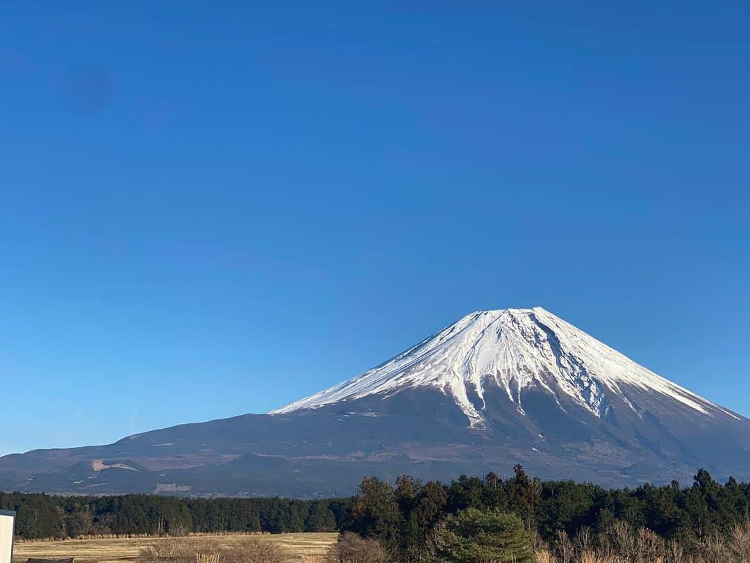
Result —
[{"label": "full-width band of dark green forest below the mountain", "polygon": [[750,483],[717,483],[700,470],[690,486],[604,489],[591,483],[542,481],[517,466],[503,480],[461,476],[449,484],[365,477],[353,498],[176,498],[157,495],[61,497],[0,493],[0,509],[17,510],[24,538],[85,534],[173,534],[210,531],[356,531],[390,552],[422,549],[439,522],[463,510],[513,513],[544,540],[558,531],[604,531],[614,522],[663,538],[702,540],[750,515]]}]

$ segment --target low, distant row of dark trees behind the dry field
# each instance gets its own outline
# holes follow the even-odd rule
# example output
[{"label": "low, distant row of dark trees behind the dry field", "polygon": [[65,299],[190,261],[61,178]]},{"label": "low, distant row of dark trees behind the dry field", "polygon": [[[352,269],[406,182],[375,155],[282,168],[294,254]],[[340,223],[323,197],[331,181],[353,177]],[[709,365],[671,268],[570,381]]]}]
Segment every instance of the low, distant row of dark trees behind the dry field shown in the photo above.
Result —
[{"label": "low, distant row of dark trees behind the dry field", "polygon": [[16,510],[24,539],[106,534],[181,536],[190,532],[336,531],[352,499],[175,498],[158,495],[64,497],[0,492],[0,510]]}]

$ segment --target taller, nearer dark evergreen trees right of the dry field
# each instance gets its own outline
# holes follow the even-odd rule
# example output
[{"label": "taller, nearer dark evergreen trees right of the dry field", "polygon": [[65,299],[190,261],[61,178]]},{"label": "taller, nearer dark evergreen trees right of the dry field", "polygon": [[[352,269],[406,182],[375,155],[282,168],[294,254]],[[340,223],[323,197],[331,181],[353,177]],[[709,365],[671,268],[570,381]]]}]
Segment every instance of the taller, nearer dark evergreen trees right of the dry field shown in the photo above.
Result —
[{"label": "taller, nearer dark evergreen trees right of the dry field", "polygon": [[[700,470],[691,486],[673,481],[604,489],[591,483],[541,481],[517,466],[502,480],[462,476],[447,486],[400,477],[395,485],[377,478],[362,481],[348,528],[378,540],[394,560],[433,561],[435,543],[454,515],[478,510],[482,518],[511,514],[538,543],[564,537],[606,536],[618,525],[646,529],[681,546],[697,546],[726,536],[750,516],[750,483],[730,477],[717,483]],[[457,559],[458,560],[458,559]]]}]

